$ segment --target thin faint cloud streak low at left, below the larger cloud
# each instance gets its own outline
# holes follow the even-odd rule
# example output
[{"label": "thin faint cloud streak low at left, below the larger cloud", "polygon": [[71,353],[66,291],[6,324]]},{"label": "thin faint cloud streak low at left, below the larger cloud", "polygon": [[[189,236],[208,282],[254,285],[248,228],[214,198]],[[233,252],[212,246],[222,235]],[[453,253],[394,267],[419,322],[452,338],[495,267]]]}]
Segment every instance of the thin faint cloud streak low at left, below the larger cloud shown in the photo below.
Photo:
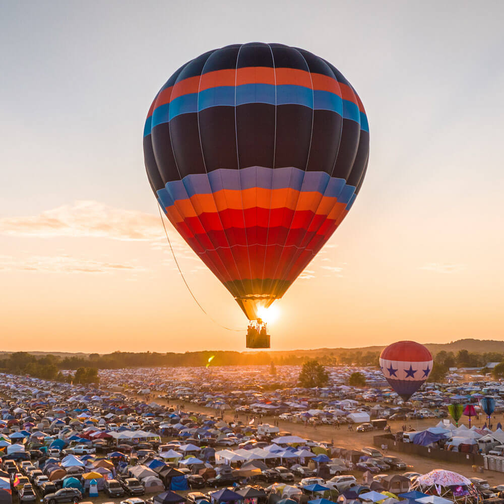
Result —
[{"label": "thin faint cloud streak low at left, below the larger cloud", "polygon": [[0,256],[0,270],[37,271],[42,273],[112,273],[117,271],[143,271],[130,263],[113,263],[79,259],[70,256],[32,256],[16,260],[10,256]]}]

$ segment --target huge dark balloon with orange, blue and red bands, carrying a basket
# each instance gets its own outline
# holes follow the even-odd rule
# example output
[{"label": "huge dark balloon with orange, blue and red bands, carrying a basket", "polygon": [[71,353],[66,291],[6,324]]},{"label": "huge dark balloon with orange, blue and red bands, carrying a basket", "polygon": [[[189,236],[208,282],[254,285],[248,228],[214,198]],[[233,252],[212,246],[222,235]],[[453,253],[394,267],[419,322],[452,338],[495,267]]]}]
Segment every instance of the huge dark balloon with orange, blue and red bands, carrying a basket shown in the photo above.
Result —
[{"label": "huge dark balloon with orange, blue and red bands, carrying a basket", "polygon": [[[229,45],[188,61],[144,128],[159,205],[251,321],[344,219],[368,155],[354,88],[328,61],[282,44]],[[250,340],[269,347],[259,333]]]}]

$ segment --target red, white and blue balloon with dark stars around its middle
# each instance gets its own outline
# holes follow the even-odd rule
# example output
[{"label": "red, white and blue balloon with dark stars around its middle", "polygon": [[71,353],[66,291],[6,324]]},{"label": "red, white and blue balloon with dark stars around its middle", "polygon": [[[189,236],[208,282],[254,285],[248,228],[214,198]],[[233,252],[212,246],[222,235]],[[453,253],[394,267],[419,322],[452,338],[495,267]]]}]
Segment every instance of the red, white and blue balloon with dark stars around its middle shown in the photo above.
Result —
[{"label": "red, white and blue balloon with dark stars around its middle", "polygon": [[398,341],[383,350],[380,368],[387,382],[407,401],[429,377],[432,355],[420,343]]}]

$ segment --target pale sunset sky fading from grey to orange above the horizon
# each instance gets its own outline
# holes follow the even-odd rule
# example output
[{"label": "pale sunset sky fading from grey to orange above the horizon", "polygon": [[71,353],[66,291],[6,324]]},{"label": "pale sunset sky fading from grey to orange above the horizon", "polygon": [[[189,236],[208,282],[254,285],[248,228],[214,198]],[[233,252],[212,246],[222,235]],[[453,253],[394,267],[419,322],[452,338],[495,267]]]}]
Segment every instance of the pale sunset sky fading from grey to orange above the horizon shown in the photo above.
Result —
[{"label": "pale sunset sky fading from grey to orange above the horizon", "polygon": [[[1,2],[2,350],[244,350],[247,321],[167,226],[147,110],[213,48],[303,47],[359,93],[370,160],[285,296],[273,350],[504,339],[504,4]],[[242,330],[229,331],[231,329]]]}]

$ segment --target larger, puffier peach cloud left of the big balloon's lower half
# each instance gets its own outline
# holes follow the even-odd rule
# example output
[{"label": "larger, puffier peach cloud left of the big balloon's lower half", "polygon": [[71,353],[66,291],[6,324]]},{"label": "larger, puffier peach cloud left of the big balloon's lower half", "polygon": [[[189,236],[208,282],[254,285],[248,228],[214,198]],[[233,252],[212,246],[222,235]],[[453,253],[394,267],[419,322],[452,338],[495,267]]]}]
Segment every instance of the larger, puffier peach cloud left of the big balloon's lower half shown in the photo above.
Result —
[{"label": "larger, puffier peach cloud left of the big balloon's lower half", "polygon": [[159,216],[154,214],[121,210],[96,201],[77,201],[35,216],[3,217],[0,234],[154,240],[164,232]]}]

